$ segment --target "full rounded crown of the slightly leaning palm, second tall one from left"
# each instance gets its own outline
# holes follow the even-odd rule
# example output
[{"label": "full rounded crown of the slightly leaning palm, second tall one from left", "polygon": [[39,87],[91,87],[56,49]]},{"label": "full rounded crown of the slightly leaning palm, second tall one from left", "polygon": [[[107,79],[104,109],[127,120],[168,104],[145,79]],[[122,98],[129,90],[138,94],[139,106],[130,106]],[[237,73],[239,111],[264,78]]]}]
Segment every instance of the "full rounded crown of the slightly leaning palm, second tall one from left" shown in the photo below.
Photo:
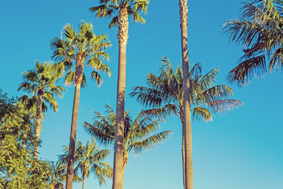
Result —
[{"label": "full rounded crown of the slightly leaning palm, second tall one from left", "polygon": [[[73,29],[68,23],[64,26],[63,38],[54,38],[51,41],[53,50],[52,58],[59,61],[54,64],[54,68],[63,74],[68,71],[65,76],[65,82],[72,84],[75,81],[75,67],[78,59],[87,61],[87,66],[91,67],[91,79],[95,80],[98,86],[102,84],[102,77],[98,71],[111,75],[109,67],[103,63],[103,59],[109,60],[109,55],[105,52],[106,47],[111,44],[106,35],[95,35],[93,25],[91,23],[81,23],[79,31]],[[83,73],[82,73],[83,74]],[[76,81],[77,82],[77,81]],[[81,86],[85,86],[86,76],[83,74]]]}]

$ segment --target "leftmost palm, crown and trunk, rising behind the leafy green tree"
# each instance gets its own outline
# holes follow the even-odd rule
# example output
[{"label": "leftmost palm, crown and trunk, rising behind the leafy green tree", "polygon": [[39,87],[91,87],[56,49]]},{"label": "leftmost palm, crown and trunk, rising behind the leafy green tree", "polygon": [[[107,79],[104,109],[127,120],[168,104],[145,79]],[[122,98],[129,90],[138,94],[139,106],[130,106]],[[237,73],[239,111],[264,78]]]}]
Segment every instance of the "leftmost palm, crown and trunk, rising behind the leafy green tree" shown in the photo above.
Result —
[{"label": "leftmost palm, crown and trunk, rising behind the leafy green tree", "polygon": [[[42,113],[47,110],[47,103],[53,108],[54,112],[58,109],[54,96],[62,97],[64,88],[56,86],[60,75],[52,69],[52,64],[35,62],[35,69],[23,73],[23,82],[18,91],[23,90],[27,93],[19,98],[19,102],[33,112],[35,115],[35,151],[34,159],[37,159],[40,131],[42,127]],[[30,95],[30,97],[28,96]]]}]

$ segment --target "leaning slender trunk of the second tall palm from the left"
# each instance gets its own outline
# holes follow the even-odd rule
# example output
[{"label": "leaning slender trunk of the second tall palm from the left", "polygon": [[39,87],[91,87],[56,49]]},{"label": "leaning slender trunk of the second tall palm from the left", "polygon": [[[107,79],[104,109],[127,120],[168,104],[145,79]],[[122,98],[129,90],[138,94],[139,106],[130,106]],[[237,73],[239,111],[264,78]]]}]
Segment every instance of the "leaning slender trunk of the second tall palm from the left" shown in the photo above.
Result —
[{"label": "leaning slender trunk of the second tall palm from the left", "polygon": [[83,77],[83,63],[84,63],[84,57],[81,55],[77,55],[76,72],[75,72],[76,88],[74,93],[73,113],[71,115],[71,134],[70,134],[70,143],[69,143],[66,189],[73,188],[74,154],[75,154],[75,145],[76,145],[76,123],[78,122],[79,95],[81,89],[81,79]]}]

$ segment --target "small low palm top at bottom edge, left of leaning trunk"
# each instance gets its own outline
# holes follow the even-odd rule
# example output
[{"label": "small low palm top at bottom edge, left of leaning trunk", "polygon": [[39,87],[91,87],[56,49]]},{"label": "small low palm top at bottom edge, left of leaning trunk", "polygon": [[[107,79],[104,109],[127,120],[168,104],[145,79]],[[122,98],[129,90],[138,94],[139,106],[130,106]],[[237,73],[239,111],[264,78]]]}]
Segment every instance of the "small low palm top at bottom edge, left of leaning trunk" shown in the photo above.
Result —
[{"label": "small low palm top at bottom edge, left of leaning trunk", "polygon": [[58,162],[47,162],[46,177],[50,185],[50,189],[63,189],[64,184],[62,181],[66,179],[65,166]]}]

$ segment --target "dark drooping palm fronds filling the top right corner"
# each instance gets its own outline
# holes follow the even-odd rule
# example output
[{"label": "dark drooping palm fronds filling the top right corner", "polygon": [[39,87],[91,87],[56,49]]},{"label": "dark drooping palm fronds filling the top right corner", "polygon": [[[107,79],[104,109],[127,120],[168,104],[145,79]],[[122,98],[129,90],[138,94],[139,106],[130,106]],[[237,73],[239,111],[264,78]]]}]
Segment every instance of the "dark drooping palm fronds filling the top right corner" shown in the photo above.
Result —
[{"label": "dark drooping palm fronds filling the top right corner", "polygon": [[[253,0],[243,3],[241,16],[224,23],[231,42],[243,45],[244,55],[227,79],[239,86],[251,79],[282,69],[283,1]],[[268,65],[267,65],[268,64]]]}]

